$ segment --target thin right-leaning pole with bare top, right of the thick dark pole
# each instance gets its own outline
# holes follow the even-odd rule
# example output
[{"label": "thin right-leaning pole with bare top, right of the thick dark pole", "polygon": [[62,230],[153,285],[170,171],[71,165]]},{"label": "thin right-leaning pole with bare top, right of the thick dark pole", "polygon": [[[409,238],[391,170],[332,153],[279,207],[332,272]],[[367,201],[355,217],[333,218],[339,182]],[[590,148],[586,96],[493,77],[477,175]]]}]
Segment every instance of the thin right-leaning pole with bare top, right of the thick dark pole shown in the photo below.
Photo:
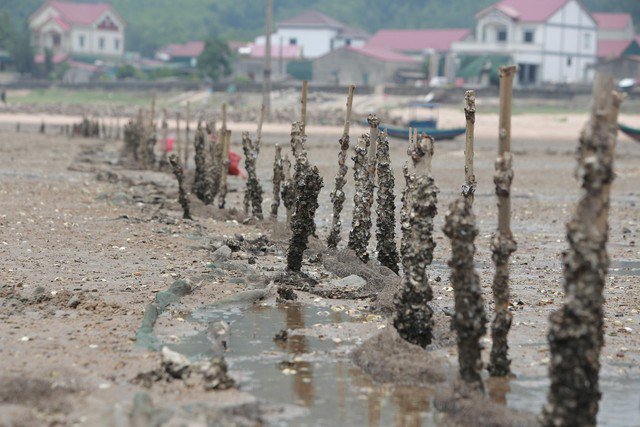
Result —
[{"label": "thin right-leaning pole with bare top, right of the thick dark pole", "polygon": [[331,231],[327,238],[327,246],[332,249],[338,247],[340,241],[340,228],[342,227],[342,221],[340,221],[340,213],[344,206],[345,194],[342,190],[347,183],[346,176],[349,168],[346,165],[347,153],[349,151],[349,124],[351,120],[351,108],[353,106],[353,93],[356,87],[354,85],[349,86],[349,94],[347,95],[347,112],[344,118],[344,130],[342,131],[342,137],[338,141],[340,144],[340,151],[338,152],[338,173],[336,173],[336,183],[333,191],[331,192],[331,202],[333,203],[333,220],[331,222]]}]

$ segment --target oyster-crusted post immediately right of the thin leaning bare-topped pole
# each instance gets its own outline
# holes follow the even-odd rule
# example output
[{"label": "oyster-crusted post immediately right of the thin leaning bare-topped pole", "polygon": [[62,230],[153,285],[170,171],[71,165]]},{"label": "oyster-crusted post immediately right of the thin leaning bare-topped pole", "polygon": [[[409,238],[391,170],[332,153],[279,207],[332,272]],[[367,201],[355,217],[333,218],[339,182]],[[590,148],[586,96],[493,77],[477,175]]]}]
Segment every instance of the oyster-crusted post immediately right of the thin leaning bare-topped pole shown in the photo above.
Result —
[{"label": "oyster-crusted post immediately right of the thin leaning bare-topped pole", "polygon": [[[353,179],[355,194],[353,196],[353,219],[347,246],[353,250],[362,262],[369,261],[367,246],[371,237],[371,210],[367,200],[369,186],[369,163],[367,162],[367,146],[369,135],[358,138],[353,156]],[[371,148],[369,148],[371,149]]]}]

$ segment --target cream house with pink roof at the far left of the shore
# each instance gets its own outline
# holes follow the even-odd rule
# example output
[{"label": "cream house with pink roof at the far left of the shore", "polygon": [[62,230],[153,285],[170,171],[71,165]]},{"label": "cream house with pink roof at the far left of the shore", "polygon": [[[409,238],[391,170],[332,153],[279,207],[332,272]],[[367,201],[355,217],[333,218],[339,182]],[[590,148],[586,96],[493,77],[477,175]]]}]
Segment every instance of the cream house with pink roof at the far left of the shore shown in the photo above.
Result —
[{"label": "cream house with pink roof at the far left of the shore", "polygon": [[29,17],[37,53],[57,56],[120,57],[124,54],[124,19],[106,3],[48,0]]}]

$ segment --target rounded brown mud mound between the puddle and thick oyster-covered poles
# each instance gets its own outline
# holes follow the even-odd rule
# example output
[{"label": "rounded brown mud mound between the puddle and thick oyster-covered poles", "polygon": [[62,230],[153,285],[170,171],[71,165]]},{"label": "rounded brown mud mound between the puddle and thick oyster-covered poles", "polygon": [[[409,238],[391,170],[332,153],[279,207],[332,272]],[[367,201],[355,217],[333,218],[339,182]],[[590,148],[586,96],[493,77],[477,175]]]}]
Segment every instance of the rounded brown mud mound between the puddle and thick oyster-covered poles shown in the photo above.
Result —
[{"label": "rounded brown mud mound between the puddle and thick oyster-covered poles", "polygon": [[432,385],[446,381],[454,373],[444,359],[403,340],[392,326],[365,341],[351,357],[380,382]]}]

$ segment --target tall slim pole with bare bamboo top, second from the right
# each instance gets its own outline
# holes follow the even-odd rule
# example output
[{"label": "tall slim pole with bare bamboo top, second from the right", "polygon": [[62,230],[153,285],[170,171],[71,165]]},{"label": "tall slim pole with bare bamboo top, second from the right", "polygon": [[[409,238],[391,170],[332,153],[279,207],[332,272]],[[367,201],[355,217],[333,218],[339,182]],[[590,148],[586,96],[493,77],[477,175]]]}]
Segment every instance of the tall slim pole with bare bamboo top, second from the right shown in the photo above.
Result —
[{"label": "tall slim pole with bare bamboo top, second from the right", "polygon": [[507,336],[513,315],[509,312],[509,258],[517,246],[511,233],[511,182],[513,168],[511,156],[511,93],[515,66],[500,68],[500,123],[498,158],[493,182],[498,197],[498,229],[491,239],[491,258],[495,264],[493,300],[495,315],[491,323],[491,356],[488,366],[493,377],[511,373]]}]

